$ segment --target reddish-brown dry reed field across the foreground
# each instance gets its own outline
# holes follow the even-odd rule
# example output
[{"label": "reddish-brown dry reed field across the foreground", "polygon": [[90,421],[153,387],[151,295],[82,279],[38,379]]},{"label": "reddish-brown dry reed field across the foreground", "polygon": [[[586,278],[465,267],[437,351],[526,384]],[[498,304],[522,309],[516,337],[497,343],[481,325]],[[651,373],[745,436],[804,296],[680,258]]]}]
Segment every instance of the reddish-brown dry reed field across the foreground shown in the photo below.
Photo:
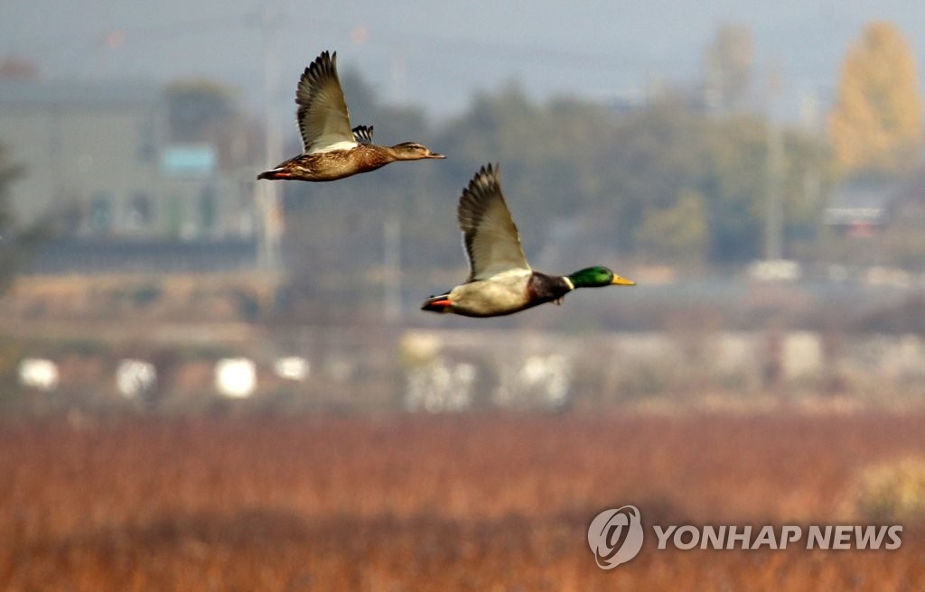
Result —
[{"label": "reddish-brown dry reed field across the foreground", "polygon": [[[602,571],[601,510],[865,524],[863,467],[925,414],[70,417],[0,424],[0,589],[903,590],[898,550],[656,550]],[[650,531],[649,531],[650,532]]]}]

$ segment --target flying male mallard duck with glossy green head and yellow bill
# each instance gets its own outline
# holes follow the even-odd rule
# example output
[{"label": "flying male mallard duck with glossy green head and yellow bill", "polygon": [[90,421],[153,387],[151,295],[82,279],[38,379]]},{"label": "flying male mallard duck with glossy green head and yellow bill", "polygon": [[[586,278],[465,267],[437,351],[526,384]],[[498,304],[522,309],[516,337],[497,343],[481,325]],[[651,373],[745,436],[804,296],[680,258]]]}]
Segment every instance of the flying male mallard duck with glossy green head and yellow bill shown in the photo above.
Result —
[{"label": "flying male mallard duck with glossy green head and yellow bill", "polygon": [[560,304],[575,288],[635,285],[599,266],[571,275],[535,272],[524,256],[498,174],[497,164],[483,166],[462,190],[457,217],[469,256],[469,278],[448,294],[427,298],[422,309],[500,317],[544,302]]}]

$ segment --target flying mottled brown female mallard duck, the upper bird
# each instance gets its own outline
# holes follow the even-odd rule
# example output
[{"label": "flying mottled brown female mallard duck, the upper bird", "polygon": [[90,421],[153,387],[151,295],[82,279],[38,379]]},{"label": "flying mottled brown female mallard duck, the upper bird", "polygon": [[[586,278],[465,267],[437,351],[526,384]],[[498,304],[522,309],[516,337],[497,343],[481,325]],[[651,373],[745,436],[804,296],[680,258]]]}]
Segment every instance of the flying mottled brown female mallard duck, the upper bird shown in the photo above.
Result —
[{"label": "flying mottled brown female mallard duck, the upper bird", "polygon": [[305,68],[296,88],[302,154],[257,175],[258,179],[334,181],[375,171],[395,161],[446,158],[417,142],[391,147],[374,144],[372,126],[351,129],[338,79],[337,58],[337,53],[323,52]]}]

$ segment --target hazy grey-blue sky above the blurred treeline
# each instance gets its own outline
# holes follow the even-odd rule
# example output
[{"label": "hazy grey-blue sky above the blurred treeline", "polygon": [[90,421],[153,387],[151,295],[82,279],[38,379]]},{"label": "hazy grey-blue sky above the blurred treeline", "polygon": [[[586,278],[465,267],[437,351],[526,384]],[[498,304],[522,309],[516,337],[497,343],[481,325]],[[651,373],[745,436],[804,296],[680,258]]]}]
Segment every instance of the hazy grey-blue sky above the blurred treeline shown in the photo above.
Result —
[{"label": "hazy grey-blue sky above the blurred treeline", "polygon": [[35,61],[47,79],[208,76],[257,106],[267,15],[278,26],[276,64],[290,104],[302,68],[330,49],[341,69],[358,69],[384,99],[444,117],[476,89],[511,80],[536,98],[693,80],[717,26],[732,22],[751,28],[759,71],[781,73],[781,103],[793,106],[809,94],[827,99],[845,48],[873,18],[894,21],[925,64],[925,3],[849,4],[0,0],[0,55]]}]

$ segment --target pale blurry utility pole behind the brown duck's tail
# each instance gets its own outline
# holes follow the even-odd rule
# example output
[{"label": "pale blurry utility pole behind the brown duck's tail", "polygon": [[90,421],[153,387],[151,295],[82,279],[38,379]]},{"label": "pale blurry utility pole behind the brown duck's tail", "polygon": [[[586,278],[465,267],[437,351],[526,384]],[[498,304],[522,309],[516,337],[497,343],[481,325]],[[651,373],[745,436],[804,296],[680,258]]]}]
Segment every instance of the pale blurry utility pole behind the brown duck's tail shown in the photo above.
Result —
[{"label": "pale blurry utility pole behind the brown duck's tail", "polygon": [[[260,26],[264,37],[266,166],[276,166],[283,160],[282,128],[279,125],[276,110],[279,104],[278,17],[279,11],[276,8],[268,8],[260,15]],[[257,206],[261,223],[257,260],[265,270],[277,271],[280,266],[279,244],[283,226],[278,183],[262,181],[257,184]]]}]

